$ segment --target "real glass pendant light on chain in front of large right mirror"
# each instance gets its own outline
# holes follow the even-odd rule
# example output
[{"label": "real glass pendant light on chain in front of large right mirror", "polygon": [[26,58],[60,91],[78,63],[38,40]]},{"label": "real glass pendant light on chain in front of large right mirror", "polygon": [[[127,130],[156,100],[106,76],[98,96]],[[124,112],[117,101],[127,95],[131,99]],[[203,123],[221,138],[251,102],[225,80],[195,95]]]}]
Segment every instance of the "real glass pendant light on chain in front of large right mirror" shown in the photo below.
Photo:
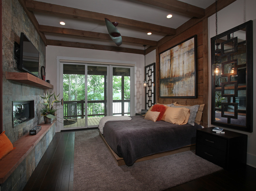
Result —
[{"label": "real glass pendant light on chain in front of large right mirror", "polygon": [[217,55],[218,55],[218,49],[219,49],[219,45],[220,43],[217,42],[217,0],[215,0],[215,20],[216,20],[216,50],[215,50],[215,61],[214,64],[212,65],[212,75],[213,76],[218,76],[218,75],[222,75],[222,64],[221,62],[217,59]]}]

